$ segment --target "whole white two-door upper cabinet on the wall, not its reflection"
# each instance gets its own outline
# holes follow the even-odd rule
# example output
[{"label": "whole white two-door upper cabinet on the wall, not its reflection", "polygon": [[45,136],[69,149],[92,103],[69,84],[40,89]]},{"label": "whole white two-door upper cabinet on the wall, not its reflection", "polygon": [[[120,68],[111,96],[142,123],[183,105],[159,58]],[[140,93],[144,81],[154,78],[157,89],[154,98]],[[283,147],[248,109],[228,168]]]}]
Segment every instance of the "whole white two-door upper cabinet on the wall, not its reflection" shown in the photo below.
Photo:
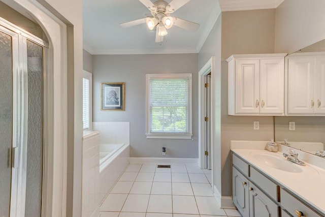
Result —
[{"label": "whole white two-door upper cabinet on the wall, not its reflection", "polygon": [[228,114],[284,115],[284,56],[232,55],[228,61]]}]

